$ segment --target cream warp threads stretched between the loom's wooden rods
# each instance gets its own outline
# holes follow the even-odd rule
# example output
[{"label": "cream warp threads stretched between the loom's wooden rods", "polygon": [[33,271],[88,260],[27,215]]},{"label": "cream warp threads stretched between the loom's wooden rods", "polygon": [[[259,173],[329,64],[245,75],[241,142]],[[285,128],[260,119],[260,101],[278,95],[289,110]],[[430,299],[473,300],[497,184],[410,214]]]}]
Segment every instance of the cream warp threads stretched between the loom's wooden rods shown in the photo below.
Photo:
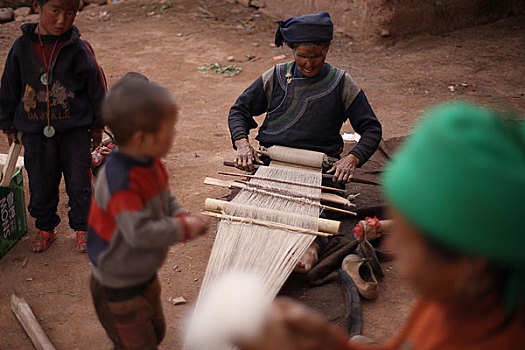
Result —
[{"label": "cream warp threads stretched between the loom's wooden rods", "polygon": [[[317,186],[320,186],[322,181],[320,171],[287,167],[260,167],[256,175]],[[264,186],[264,180],[252,179],[250,182]],[[283,191],[301,191],[309,197],[320,198],[321,195],[318,188],[282,183],[276,183],[275,187]],[[272,210],[246,210],[246,206]],[[318,231],[317,206],[269,196],[248,190],[248,187],[242,189],[229,203],[225,213]],[[204,296],[210,293],[214,281],[228,271],[257,274],[261,277],[265,298],[272,300],[314,239],[313,235],[292,234],[276,228],[221,220],[197,300],[196,312],[205,307]],[[188,344],[185,348],[190,349]],[[202,347],[191,347],[191,350],[197,349],[203,350]]]}]

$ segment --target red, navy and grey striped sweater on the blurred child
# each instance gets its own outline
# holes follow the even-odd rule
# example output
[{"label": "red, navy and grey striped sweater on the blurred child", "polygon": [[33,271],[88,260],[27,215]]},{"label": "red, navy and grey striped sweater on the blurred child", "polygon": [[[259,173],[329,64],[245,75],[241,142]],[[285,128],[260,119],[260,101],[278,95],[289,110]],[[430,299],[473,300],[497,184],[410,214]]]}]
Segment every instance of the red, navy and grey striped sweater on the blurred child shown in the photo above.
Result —
[{"label": "red, navy and grey striped sweater on the blurred child", "polygon": [[184,238],[185,214],[159,159],[115,150],[99,172],[88,220],[88,255],[95,278],[111,288],[147,281],[169,246]]}]

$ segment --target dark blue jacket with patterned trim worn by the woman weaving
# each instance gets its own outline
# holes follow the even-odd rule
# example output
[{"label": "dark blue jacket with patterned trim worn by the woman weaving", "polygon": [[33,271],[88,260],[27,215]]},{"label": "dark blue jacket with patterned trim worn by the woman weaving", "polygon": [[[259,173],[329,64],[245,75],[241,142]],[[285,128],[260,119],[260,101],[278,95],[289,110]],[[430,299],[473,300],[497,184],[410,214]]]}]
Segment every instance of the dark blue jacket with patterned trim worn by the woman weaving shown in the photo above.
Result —
[{"label": "dark blue jacket with patterned trim worn by the woman weaving", "polygon": [[256,137],[265,147],[281,145],[338,157],[343,151],[341,127],[349,120],[361,135],[350,153],[362,165],[381,141],[381,123],[364,92],[350,74],[328,63],[312,78],[305,77],[293,61],[263,73],[230,109],[228,125],[234,145],[257,127],[253,117],[265,112]]}]

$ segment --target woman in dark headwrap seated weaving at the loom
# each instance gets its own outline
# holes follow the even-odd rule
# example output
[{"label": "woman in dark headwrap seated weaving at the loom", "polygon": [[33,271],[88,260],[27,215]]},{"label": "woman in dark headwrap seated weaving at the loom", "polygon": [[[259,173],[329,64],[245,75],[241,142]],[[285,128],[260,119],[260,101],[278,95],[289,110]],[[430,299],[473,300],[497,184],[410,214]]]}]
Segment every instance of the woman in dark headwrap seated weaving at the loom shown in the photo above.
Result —
[{"label": "woman in dark headwrap seated weaving at the loom", "polygon": [[[231,107],[228,125],[239,169],[253,171],[253,163],[261,163],[248,135],[257,127],[253,117],[265,112],[256,137],[259,144],[313,150],[339,159],[327,171],[334,174],[334,182],[350,182],[355,168],[376,151],[381,124],[364,92],[350,74],[325,63],[332,38],[333,24],[327,12],[279,22],[275,44],[286,43],[293,50],[294,61],[264,72]],[[340,130],[346,120],[361,139],[341,157]],[[308,272],[317,262],[319,249],[319,242],[314,242],[296,271]]]}]

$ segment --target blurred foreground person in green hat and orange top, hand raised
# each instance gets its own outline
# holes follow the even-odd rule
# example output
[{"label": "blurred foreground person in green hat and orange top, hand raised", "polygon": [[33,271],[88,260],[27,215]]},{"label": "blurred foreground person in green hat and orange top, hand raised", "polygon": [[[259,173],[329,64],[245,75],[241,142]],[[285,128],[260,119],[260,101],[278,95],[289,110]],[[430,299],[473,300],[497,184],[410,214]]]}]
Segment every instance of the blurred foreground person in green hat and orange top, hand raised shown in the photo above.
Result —
[{"label": "blurred foreground person in green hat and orange top, hand raised", "polygon": [[391,244],[419,294],[383,346],[278,300],[243,349],[525,349],[525,125],[465,103],[427,114],[383,178]]}]

